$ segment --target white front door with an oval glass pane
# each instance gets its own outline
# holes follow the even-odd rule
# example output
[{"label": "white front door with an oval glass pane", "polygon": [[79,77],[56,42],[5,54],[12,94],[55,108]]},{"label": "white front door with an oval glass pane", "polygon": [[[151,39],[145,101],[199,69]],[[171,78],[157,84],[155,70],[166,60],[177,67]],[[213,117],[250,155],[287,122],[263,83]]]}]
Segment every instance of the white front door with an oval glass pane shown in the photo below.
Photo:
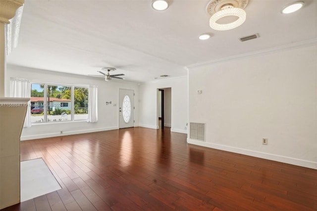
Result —
[{"label": "white front door with an oval glass pane", "polygon": [[134,127],[134,90],[119,89],[119,128]]}]

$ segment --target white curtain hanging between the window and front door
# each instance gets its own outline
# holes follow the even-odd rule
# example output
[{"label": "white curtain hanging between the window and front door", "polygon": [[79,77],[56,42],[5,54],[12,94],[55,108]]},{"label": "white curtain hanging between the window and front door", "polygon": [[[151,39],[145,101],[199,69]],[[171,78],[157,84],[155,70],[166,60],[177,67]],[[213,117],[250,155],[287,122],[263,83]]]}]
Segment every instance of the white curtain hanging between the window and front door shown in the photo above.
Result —
[{"label": "white curtain hanging between the window and front door", "polygon": [[88,119],[87,122],[98,121],[98,86],[89,86]]}]

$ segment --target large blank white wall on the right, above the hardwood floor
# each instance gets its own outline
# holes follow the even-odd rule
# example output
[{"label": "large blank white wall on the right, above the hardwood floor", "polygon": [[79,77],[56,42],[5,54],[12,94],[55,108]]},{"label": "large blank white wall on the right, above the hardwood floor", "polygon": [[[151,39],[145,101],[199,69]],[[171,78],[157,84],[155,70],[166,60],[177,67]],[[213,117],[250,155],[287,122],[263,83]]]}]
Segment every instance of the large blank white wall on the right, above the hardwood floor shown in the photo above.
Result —
[{"label": "large blank white wall on the right, above the hardwood floor", "polygon": [[191,68],[189,122],[188,143],[317,169],[317,46]]}]

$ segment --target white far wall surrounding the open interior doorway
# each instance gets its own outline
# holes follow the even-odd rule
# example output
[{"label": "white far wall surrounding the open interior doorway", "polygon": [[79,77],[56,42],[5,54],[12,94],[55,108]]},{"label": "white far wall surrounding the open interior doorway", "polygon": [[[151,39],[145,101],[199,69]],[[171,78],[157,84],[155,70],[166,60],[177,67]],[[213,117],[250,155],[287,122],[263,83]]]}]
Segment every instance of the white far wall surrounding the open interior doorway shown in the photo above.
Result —
[{"label": "white far wall surrounding the open interior doorway", "polygon": [[158,129],[158,89],[171,88],[171,131],[187,133],[187,77],[164,79],[140,85],[140,126]]}]

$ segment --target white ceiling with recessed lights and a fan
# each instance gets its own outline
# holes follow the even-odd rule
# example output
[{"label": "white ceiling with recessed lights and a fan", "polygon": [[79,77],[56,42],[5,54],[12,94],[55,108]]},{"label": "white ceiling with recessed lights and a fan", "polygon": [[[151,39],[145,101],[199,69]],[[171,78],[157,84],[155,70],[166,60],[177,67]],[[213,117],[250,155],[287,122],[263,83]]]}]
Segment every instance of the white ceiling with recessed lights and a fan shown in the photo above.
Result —
[{"label": "white ceiling with recessed lights and a fan", "polygon": [[[291,14],[292,0],[249,0],[238,28],[209,26],[208,0],[170,0],[155,11],[151,0],[25,0],[19,43],[7,63],[80,75],[116,67],[128,81],[179,77],[185,66],[317,38],[317,1]],[[209,40],[199,40],[211,33]],[[240,42],[239,38],[260,34]],[[158,78],[158,79],[155,79]],[[117,79],[119,80],[119,79]]]}]

